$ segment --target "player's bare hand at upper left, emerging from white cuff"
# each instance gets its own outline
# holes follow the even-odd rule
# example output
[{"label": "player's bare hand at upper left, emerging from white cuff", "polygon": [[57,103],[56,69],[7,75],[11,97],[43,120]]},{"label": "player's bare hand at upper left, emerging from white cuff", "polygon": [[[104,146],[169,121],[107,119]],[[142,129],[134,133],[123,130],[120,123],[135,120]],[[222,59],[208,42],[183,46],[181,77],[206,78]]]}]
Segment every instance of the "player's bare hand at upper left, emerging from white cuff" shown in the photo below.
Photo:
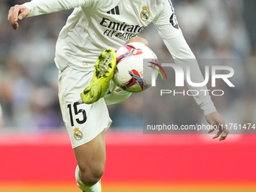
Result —
[{"label": "player's bare hand at upper left, emerging from white cuff", "polygon": [[15,30],[19,29],[18,20],[22,20],[29,14],[29,8],[23,5],[15,5],[11,7],[8,14],[8,21]]}]

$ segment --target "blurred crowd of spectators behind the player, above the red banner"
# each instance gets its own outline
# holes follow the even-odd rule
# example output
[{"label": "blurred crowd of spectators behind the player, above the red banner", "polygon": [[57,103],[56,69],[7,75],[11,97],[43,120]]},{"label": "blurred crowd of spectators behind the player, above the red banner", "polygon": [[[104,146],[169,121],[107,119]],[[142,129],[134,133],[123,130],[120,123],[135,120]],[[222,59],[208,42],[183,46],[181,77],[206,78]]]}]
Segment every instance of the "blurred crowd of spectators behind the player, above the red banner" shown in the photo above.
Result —
[{"label": "blurred crowd of spectators behind the player, above the red banner", "polygon": [[[64,130],[57,96],[58,70],[53,58],[59,31],[72,10],[26,18],[20,21],[20,29],[14,31],[7,20],[8,10],[24,2],[0,0],[2,130]],[[230,64],[237,72],[233,79],[236,88],[220,84],[218,89],[224,90],[225,96],[213,96],[212,100],[227,122],[232,122],[235,117],[239,122],[253,123],[256,119],[256,41],[253,34],[256,32],[248,26],[256,14],[252,11],[248,17],[245,12],[254,6],[254,1],[248,0],[245,4],[242,0],[173,0],[172,3],[184,37],[198,59],[242,60],[234,66]],[[149,41],[158,58],[172,59],[153,24],[140,36]],[[204,71],[204,67],[200,67]],[[109,105],[113,120],[111,129],[141,128],[145,97],[154,100],[154,96],[145,91],[133,93],[120,104]],[[175,103],[170,100],[167,104],[157,101],[160,105],[156,108],[164,108],[176,124],[203,121],[199,107],[190,105],[195,103],[193,98],[175,98],[173,101]]]}]

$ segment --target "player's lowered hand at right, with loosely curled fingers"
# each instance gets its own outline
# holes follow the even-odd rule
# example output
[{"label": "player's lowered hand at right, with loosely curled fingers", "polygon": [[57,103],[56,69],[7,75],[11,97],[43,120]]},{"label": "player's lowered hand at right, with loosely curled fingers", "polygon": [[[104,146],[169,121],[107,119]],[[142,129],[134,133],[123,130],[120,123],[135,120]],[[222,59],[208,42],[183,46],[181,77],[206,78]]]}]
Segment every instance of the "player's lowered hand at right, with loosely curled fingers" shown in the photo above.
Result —
[{"label": "player's lowered hand at right, with loosely curled fingers", "polygon": [[220,141],[226,139],[228,133],[230,133],[229,130],[227,130],[227,126],[225,125],[225,121],[223,120],[223,118],[221,117],[220,114],[218,114],[218,112],[213,112],[211,114],[207,114],[206,115],[206,120],[209,124],[211,124],[213,127],[212,127],[212,130],[209,130],[208,133],[212,133],[214,132],[215,130],[218,130],[218,133],[213,136],[212,138],[213,139],[216,139],[218,138],[219,136],[220,137]]}]

